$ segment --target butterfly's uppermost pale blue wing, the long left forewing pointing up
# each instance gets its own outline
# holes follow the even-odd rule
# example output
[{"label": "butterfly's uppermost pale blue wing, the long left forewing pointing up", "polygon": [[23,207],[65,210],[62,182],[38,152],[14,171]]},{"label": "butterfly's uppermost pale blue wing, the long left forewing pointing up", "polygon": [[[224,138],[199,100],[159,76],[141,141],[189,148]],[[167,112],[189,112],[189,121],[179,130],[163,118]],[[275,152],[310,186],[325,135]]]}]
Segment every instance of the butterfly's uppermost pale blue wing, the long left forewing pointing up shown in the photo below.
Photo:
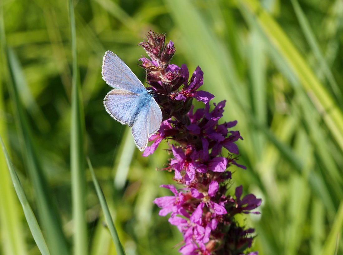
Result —
[{"label": "butterfly's uppermost pale blue wing, the long left forewing pointing up", "polygon": [[142,82],[132,73],[131,69],[111,51],[106,51],[104,55],[102,75],[111,87],[126,89],[138,94],[145,90]]}]

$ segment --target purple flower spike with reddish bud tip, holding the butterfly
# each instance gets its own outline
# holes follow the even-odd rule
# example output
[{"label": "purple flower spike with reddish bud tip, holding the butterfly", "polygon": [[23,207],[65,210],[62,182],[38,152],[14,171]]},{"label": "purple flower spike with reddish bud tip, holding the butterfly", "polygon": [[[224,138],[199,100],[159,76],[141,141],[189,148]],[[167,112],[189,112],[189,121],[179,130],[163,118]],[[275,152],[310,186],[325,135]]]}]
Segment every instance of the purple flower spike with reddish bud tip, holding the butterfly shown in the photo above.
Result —
[{"label": "purple flower spike with reddish bud tip, holding the butterfly", "polygon": [[[156,92],[164,121],[159,131],[150,137],[153,143],[143,156],[152,154],[164,139],[174,141],[170,148],[173,157],[164,169],[174,171],[174,180],[178,186],[182,185],[182,188],[161,186],[174,195],[155,199],[154,203],[161,208],[159,215],[170,213],[170,224],[183,234],[184,242],[179,249],[182,254],[244,254],[251,246],[254,229],[239,226],[234,216],[258,214],[250,211],[261,204],[261,199],[253,194],[242,197],[242,186],[236,188],[233,195],[229,193],[232,173],[228,168],[236,165],[245,169],[237,163],[239,151],[235,144],[243,138],[239,131],[231,130],[237,121],[219,123],[225,101],[211,103],[214,96],[198,90],[203,84],[200,67],[189,79],[186,65],[170,64],[175,53],[173,42],[166,44],[165,35],[152,31],[147,38],[140,45],[150,59],[141,58],[141,66],[146,70],[151,89]],[[204,108],[194,110],[193,98],[203,102]]]}]

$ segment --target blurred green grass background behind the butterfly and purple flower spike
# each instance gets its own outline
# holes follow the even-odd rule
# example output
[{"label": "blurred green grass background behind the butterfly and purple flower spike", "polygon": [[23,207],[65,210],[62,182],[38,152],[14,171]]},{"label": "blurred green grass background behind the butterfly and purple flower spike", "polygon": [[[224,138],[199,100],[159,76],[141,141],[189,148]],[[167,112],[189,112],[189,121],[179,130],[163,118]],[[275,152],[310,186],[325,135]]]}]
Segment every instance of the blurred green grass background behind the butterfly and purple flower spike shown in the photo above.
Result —
[{"label": "blurred green grass background behind the butterfly and purple flower spike", "polygon": [[[227,100],[226,121],[238,120],[244,138],[237,142],[239,163],[247,170],[233,169],[232,189],[243,184],[245,193],[263,200],[260,216],[237,218],[256,228],[252,251],[343,253],[341,0],[90,0],[74,5],[79,76],[72,71],[67,0],[0,2],[1,137],[51,254],[116,254],[90,173],[82,167],[85,155],[126,254],[178,254],[174,245],[182,240],[180,233],[152,203],[169,194],[158,186],[171,183],[172,175],[155,170],[167,162],[167,145],[143,158],[130,130],[103,106],[110,90],[101,77],[105,51],[120,56],[145,84],[137,65],[145,52],[137,44],[150,29],[175,42],[173,64],[186,63],[190,72],[202,68],[203,89],[215,95],[215,102]],[[76,117],[73,82],[81,85],[81,103],[75,105],[82,114]],[[73,141],[76,154],[70,157]],[[75,155],[81,158],[80,178],[71,177]],[[0,160],[0,254],[40,254],[2,153]],[[82,216],[80,221],[72,214],[78,205],[72,189],[85,198],[80,202],[84,226]],[[79,240],[73,240],[74,231]],[[76,243],[81,248],[72,248]]]}]

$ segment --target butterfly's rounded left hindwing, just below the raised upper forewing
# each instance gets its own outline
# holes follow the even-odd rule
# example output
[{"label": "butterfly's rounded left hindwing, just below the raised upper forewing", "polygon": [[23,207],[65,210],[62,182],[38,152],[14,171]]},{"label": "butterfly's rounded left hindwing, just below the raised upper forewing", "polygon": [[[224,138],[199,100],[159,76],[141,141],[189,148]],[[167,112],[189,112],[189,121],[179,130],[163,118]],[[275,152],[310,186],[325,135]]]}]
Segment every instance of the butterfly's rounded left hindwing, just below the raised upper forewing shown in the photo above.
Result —
[{"label": "butterfly's rounded left hindwing, just below the raised upper forewing", "polygon": [[113,89],[104,98],[106,111],[121,124],[129,124],[137,107],[139,95],[123,89]]}]

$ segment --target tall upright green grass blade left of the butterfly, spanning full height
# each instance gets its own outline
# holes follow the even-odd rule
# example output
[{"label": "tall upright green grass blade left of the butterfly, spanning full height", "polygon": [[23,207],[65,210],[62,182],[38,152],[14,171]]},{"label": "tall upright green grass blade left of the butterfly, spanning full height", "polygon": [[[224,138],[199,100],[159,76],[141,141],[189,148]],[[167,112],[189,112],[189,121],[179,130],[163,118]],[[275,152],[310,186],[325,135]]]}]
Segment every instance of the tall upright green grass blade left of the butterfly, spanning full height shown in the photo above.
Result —
[{"label": "tall upright green grass blade left of the butterfly, spanning full height", "polygon": [[87,248],[87,225],[85,218],[85,184],[84,172],[84,116],[81,87],[78,74],[76,50],[76,28],[74,3],[69,0],[69,18],[71,29],[71,51],[73,56],[72,91],[71,91],[71,127],[70,127],[70,160],[71,160],[71,191],[74,221],[74,254],[85,255]]}]

